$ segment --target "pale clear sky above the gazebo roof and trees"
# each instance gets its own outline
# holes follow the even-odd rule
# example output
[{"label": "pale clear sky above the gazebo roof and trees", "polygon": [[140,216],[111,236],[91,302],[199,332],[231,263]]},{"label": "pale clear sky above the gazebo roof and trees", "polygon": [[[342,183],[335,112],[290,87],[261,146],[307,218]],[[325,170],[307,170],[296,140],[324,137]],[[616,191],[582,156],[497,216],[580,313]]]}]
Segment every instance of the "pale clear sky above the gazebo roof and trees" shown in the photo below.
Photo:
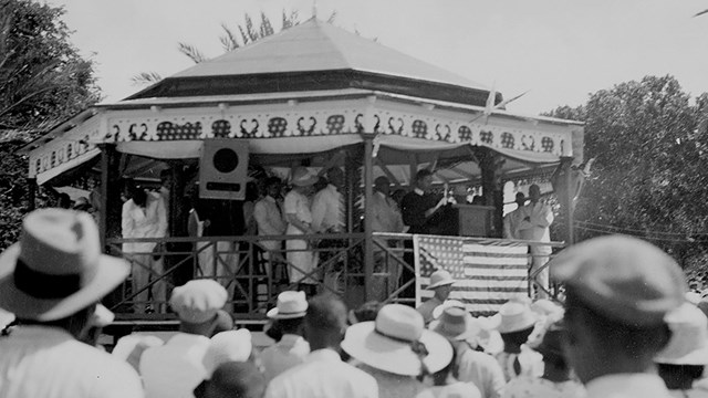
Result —
[{"label": "pale clear sky above the gazebo roof and trees", "polygon": [[708,0],[44,0],[64,6],[73,44],[96,62],[104,102],[144,86],[131,77],[167,77],[194,63],[185,42],[223,53],[221,24],[282,10],[313,14],[378,43],[494,87],[507,109],[537,115],[584,104],[590,94],[646,75],[673,75],[684,90],[708,92]]}]

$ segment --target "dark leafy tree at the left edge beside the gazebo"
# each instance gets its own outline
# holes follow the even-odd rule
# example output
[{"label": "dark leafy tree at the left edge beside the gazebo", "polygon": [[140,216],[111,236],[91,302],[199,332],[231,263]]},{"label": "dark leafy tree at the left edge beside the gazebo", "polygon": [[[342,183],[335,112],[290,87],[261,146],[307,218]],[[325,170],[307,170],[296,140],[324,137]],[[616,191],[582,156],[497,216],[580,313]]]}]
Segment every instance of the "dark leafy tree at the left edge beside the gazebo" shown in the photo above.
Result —
[{"label": "dark leafy tree at the left edge beside the gazebo", "polygon": [[71,44],[63,8],[0,0],[0,247],[27,211],[27,159],[15,151],[100,98],[93,61]]}]

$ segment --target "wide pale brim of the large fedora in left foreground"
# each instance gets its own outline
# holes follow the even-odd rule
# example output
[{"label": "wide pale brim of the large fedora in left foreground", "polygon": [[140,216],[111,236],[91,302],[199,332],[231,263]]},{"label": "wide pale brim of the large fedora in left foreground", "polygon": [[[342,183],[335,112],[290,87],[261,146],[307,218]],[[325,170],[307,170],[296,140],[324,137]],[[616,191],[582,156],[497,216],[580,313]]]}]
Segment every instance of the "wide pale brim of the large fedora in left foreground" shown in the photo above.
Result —
[{"label": "wide pale brim of the large fedora in left foreground", "polygon": [[12,275],[20,255],[20,243],[14,243],[0,254],[0,303],[18,318],[41,322],[56,321],[97,303],[117,287],[131,273],[127,261],[101,254],[96,273],[77,292],[62,298],[37,298],[14,284]]}]

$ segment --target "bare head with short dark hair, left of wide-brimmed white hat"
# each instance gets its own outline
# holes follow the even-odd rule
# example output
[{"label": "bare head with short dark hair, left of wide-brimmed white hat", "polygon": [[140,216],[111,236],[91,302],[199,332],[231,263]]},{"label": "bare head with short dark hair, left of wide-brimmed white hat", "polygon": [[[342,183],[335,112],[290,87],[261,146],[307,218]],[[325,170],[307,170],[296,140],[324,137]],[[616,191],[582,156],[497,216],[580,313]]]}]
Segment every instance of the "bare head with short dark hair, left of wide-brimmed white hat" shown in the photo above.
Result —
[{"label": "bare head with short dark hair, left of wide-brimmed white hat", "polygon": [[310,349],[340,350],[346,329],[346,306],[333,294],[320,294],[308,302],[304,317],[305,339]]}]

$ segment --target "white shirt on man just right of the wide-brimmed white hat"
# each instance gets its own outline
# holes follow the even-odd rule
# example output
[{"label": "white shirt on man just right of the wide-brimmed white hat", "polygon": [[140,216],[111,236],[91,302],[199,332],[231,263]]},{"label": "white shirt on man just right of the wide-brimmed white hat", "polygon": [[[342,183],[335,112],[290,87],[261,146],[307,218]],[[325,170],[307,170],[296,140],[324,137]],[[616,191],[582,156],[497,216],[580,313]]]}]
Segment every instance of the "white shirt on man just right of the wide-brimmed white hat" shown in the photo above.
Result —
[{"label": "white shirt on man just right of the wide-brimmed white hat", "polygon": [[481,392],[482,398],[499,398],[507,381],[497,359],[489,354],[465,349],[458,357],[460,381],[471,383]]}]

